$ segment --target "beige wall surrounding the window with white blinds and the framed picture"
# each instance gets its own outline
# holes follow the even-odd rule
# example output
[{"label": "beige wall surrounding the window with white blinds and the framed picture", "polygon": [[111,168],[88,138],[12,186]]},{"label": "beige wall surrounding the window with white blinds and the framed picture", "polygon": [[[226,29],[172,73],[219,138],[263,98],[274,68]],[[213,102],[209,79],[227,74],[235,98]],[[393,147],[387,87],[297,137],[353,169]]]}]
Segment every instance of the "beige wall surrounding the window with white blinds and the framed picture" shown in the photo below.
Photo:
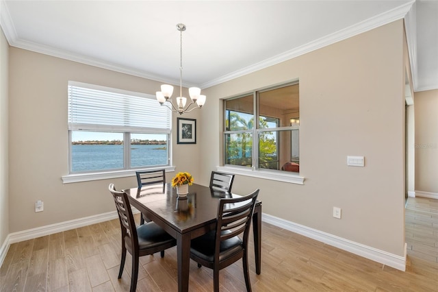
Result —
[{"label": "beige wall surrounding the window with white blinds and the framed picture", "polygon": [[[160,83],[77,62],[10,48],[10,230],[18,232],[113,211],[107,186],[136,186],[136,179],[118,178],[63,184],[68,172],[68,80],[155,95]],[[197,118],[198,111],[184,117]],[[173,127],[176,129],[174,115]],[[202,125],[198,123],[198,131]],[[177,171],[198,178],[196,145],[176,145]],[[170,180],[174,173],[167,173]],[[35,212],[35,202],[44,211]]]}]

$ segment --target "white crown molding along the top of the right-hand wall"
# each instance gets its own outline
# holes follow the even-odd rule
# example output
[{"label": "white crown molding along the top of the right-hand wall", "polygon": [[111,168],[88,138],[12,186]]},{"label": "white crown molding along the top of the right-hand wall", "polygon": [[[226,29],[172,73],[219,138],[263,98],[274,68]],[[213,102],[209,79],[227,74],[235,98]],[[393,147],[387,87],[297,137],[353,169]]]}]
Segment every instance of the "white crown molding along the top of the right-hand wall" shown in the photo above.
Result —
[{"label": "white crown molding along the top of the right-hand wall", "polygon": [[[286,51],[285,53],[281,53],[272,58],[268,58],[251,66],[247,66],[244,69],[234,71],[233,73],[224,75],[222,77],[216,78],[209,82],[205,82],[201,84],[201,88],[208,88],[223,82],[227,82],[229,80],[233,80],[237,77],[241,77],[243,75],[247,75],[249,73],[253,73],[255,71],[259,71],[261,69],[265,69],[268,66],[272,66],[275,64],[279,64],[281,62],[290,60],[292,58],[296,58],[298,56],[302,56],[305,53],[309,53],[311,51],[315,51],[322,47],[326,47],[328,45],[332,45],[335,42],[339,42],[341,40],[346,40],[347,38],[351,38],[352,36],[357,36],[358,34],[362,34],[363,32],[368,32],[371,29],[381,27],[382,25],[386,25],[393,21],[397,21],[399,19],[403,19],[404,16],[411,10],[411,6],[415,3],[415,0],[411,0],[408,3],[400,5],[398,8],[394,8],[393,10],[389,10],[388,12],[384,12],[382,14],[378,14],[370,19],[365,21],[361,21],[355,25],[350,27],[346,27],[345,29],[341,29],[338,32],[333,34],[329,34],[328,36],[324,36],[312,42],[308,42],[305,45],[292,49],[290,51]],[[415,39],[416,40],[416,39]]]}]

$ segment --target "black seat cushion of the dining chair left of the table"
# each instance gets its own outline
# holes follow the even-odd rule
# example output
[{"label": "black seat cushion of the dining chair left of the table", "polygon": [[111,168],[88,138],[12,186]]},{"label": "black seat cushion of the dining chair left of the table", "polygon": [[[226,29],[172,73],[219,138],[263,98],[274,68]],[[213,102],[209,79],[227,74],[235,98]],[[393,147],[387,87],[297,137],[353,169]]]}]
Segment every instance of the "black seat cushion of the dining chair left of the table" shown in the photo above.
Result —
[{"label": "black seat cushion of the dining chair left of the table", "polygon": [[[154,222],[149,222],[138,226],[137,235],[140,250],[175,241],[170,234],[164,231],[163,228],[157,226],[157,224]],[[131,239],[129,239],[128,236],[125,237],[125,244],[128,246],[131,245]]]}]

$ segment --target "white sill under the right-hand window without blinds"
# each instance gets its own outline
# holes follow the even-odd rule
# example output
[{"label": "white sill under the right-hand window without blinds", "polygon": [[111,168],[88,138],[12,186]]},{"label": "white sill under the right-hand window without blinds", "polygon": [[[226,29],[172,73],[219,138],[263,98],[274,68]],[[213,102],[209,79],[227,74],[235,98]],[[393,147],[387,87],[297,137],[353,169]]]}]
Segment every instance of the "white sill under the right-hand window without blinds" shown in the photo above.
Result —
[{"label": "white sill under the right-hand window without blinds", "polygon": [[217,170],[224,173],[251,176],[253,178],[264,178],[265,180],[277,180],[279,182],[289,182],[291,184],[304,184],[305,178],[285,171],[261,171],[253,170],[248,167],[217,167]]}]

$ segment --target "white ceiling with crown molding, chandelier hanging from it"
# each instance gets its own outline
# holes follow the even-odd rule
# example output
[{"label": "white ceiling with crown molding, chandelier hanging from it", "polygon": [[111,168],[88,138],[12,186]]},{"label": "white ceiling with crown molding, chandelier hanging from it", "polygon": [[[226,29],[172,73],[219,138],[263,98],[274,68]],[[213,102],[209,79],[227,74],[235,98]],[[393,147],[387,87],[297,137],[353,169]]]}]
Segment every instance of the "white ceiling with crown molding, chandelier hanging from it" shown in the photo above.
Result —
[{"label": "white ceiling with crown molding, chandelier hanging from it", "polygon": [[205,88],[407,21],[416,91],[438,88],[438,1],[1,1],[11,46]]}]

